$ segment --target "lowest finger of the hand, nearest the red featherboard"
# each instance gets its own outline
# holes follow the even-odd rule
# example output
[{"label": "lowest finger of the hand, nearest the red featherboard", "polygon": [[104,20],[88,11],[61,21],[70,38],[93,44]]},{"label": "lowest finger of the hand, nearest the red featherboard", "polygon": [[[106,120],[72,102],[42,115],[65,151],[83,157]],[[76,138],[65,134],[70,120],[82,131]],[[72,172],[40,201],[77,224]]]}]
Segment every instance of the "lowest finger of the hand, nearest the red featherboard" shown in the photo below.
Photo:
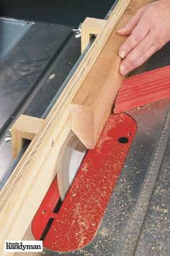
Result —
[{"label": "lowest finger of the hand, nearest the red featherboard", "polygon": [[122,75],[128,74],[130,71],[133,69],[139,67],[141,64],[143,64],[147,59],[149,59],[156,51],[158,51],[158,48],[156,46],[151,45],[146,52],[141,54],[138,59],[135,60],[132,64],[128,65],[126,64],[121,64],[120,65],[120,73]]}]

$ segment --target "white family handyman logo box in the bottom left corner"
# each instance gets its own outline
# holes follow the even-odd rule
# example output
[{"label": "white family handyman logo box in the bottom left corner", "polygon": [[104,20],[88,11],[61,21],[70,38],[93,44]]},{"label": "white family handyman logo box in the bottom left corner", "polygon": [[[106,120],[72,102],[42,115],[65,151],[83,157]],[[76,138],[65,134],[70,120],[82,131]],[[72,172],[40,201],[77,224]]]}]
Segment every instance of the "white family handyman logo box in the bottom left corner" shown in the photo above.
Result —
[{"label": "white family handyman logo box in the bottom left corner", "polygon": [[42,241],[5,241],[5,252],[42,252]]}]

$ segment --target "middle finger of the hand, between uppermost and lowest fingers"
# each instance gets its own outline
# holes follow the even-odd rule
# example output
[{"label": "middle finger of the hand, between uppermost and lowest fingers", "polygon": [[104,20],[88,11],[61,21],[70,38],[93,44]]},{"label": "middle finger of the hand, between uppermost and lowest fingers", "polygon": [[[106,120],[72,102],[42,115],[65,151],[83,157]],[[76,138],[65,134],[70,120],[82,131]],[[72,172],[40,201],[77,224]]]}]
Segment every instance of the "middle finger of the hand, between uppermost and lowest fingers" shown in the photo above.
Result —
[{"label": "middle finger of the hand, between uppermost and lowest fingers", "polygon": [[[144,24],[144,25],[143,25]],[[119,55],[123,59],[127,54],[140,43],[150,30],[149,23],[141,18],[138,25],[133,29],[132,34],[128,37],[125,43],[120,47]]]}]

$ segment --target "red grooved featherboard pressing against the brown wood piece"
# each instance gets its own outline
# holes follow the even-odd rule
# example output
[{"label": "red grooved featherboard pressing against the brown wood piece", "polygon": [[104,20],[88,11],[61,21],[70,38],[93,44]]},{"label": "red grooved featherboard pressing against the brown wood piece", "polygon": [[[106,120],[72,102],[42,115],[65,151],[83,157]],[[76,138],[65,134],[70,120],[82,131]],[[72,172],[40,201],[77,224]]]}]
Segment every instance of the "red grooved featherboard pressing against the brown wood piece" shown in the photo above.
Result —
[{"label": "red grooved featherboard pressing against the brown wood piece", "polygon": [[128,77],[115,101],[115,113],[170,98],[170,66]]}]

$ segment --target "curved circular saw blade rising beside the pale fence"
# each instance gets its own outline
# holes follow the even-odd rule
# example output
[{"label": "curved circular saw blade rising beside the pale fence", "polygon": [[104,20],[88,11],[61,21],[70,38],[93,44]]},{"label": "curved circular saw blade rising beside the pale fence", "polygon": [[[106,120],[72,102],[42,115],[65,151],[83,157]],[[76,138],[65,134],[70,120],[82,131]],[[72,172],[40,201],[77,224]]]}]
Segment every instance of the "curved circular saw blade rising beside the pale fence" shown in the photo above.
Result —
[{"label": "curved circular saw blade rising beside the pale fence", "polygon": [[58,155],[58,189],[62,201],[66,197],[85,154],[84,145],[72,131],[69,132]]}]

